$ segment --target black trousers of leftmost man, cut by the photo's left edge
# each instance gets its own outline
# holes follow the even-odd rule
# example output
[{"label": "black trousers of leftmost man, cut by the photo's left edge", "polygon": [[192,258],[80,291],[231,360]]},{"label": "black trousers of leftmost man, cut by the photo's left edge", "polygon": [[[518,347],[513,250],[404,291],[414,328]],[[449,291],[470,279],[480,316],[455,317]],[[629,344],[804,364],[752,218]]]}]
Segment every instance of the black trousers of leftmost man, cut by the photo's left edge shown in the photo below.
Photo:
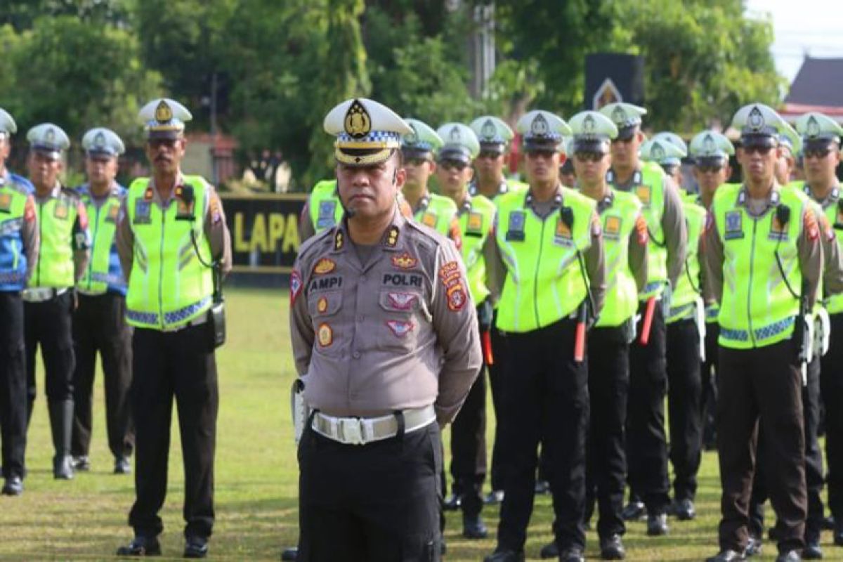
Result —
[{"label": "black trousers of leftmost man, cut by the photo's left edge", "polygon": [[24,301],[19,292],[0,292],[0,436],[3,438],[3,478],[24,477],[24,349]]}]

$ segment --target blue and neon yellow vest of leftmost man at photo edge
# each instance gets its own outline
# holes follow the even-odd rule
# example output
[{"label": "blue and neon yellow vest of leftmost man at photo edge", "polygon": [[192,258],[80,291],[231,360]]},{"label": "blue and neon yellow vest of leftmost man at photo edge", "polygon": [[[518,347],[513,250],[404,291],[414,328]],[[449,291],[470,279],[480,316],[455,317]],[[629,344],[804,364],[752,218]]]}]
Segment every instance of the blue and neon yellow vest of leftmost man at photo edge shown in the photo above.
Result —
[{"label": "blue and neon yellow vest of leftmost man at photo edge", "polygon": [[27,197],[17,185],[0,184],[0,292],[19,292],[26,286],[28,256],[21,229]]}]

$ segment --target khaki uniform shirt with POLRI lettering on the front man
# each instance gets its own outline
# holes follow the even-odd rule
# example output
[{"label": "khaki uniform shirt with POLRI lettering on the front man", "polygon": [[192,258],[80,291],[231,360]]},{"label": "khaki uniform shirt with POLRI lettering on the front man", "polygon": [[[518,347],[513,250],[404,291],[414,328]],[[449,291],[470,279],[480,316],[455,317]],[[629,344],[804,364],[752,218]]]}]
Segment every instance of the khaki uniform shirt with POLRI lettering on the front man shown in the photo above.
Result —
[{"label": "khaki uniform shirt with POLRI lettering on the front man", "polygon": [[454,244],[395,211],[362,264],[346,222],[303,244],[290,335],[304,399],[336,416],[434,404],[454,419],[481,369],[480,334]]}]

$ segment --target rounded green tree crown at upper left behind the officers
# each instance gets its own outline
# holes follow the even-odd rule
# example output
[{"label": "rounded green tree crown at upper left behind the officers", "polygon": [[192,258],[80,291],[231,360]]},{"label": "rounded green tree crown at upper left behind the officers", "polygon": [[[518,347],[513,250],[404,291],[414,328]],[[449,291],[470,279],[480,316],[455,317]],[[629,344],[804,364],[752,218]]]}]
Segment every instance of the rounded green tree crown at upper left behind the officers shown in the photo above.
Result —
[{"label": "rounded green tree crown at upper left behind the officers", "polygon": [[93,126],[139,138],[139,104],[159,93],[160,77],[142,66],[129,32],[59,16],[37,19],[19,36],[4,28],[0,37],[11,45],[0,57],[10,72],[4,103],[22,127],[51,121],[72,141]]}]

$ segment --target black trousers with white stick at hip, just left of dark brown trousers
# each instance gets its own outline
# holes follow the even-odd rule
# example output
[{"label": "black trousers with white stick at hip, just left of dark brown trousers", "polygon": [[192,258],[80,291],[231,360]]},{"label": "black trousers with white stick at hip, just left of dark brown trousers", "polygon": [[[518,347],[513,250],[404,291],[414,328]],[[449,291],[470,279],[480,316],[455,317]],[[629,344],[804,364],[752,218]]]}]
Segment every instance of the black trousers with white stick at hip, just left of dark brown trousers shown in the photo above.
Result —
[{"label": "black trousers with white stick at hip, just left of dark brown trousers", "polygon": [[693,318],[668,324],[668,420],[674,500],[694,500],[702,460],[700,335]]}]

